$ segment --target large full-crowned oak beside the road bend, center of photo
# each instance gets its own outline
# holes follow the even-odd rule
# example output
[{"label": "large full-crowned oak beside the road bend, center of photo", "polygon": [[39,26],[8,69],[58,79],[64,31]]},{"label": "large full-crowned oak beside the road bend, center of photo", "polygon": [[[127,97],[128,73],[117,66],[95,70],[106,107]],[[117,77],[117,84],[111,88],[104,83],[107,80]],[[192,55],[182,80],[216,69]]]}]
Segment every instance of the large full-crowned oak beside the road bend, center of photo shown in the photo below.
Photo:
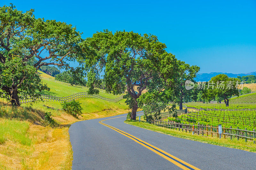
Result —
[{"label": "large full-crowned oak beside the road bend, center of photo", "polygon": [[84,50],[89,54],[85,65],[90,68],[87,83],[90,92],[97,92],[94,88],[99,83],[99,74],[105,67],[106,91],[113,94],[127,91],[124,98],[132,108],[133,120],[138,109],[137,99],[145,89],[156,90],[150,92],[152,96],[157,92],[164,93],[166,100],[174,100],[177,78],[180,76],[180,61],[164,50],[165,44],[159,42],[155,35],[125,31],[113,34],[104,30],[87,38],[84,44],[85,47],[89,46]]}]

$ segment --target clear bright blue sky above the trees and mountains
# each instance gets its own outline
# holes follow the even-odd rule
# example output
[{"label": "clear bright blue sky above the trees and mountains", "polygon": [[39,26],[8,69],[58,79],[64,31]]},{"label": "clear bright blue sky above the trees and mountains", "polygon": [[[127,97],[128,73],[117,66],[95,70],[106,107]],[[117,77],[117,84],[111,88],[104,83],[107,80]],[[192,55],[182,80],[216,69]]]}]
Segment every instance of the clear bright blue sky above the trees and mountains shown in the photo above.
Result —
[{"label": "clear bright blue sky above the trees and mountains", "polygon": [[256,71],[256,1],[5,1],[36,18],[76,26],[83,38],[108,29],[155,34],[200,73]]}]

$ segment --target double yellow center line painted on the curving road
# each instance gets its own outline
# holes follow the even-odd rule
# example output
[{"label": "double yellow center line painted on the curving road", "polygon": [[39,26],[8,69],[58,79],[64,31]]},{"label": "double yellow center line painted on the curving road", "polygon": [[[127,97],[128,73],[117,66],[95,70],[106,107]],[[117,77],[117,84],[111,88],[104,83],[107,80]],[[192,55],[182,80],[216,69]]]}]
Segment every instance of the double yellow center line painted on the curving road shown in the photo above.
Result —
[{"label": "double yellow center line painted on the curving road", "polygon": [[[120,116],[120,117],[124,117],[124,116]],[[115,118],[119,118],[119,117],[115,117]],[[110,119],[115,119],[115,118],[110,118]],[[106,120],[109,120],[109,119],[106,119]],[[107,126],[109,128],[111,128],[111,129],[113,129],[115,131],[117,131],[118,133],[121,133],[122,135],[124,135],[126,137],[129,137],[133,141],[141,144],[142,146],[148,148],[149,150],[151,150],[151,151],[155,152],[156,154],[162,156],[163,158],[169,160],[170,162],[172,162],[173,164],[179,166],[180,168],[182,168],[182,169],[191,169],[191,170],[200,170],[197,167],[192,166],[192,165],[188,164],[187,162],[185,162],[185,161],[183,161],[183,160],[181,160],[179,158],[176,158],[175,156],[173,156],[173,155],[171,155],[171,154],[169,154],[169,153],[167,153],[167,152],[157,148],[156,146],[148,144],[147,142],[144,142],[143,140],[130,135],[129,133],[126,133],[126,132],[124,132],[122,130],[116,129],[116,128],[112,127],[112,126],[109,126],[108,124],[102,123],[103,121],[106,121],[106,120],[102,120],[99,123],[103,124],[103,125],[105,125],[105,126]]]}]

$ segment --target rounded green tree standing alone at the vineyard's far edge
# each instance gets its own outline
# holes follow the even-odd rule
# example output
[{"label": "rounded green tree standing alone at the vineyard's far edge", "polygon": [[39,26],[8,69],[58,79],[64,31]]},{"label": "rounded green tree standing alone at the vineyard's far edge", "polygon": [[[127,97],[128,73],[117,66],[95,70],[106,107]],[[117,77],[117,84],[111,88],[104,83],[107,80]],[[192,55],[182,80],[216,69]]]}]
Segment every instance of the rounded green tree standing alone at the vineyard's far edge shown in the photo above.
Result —
[{"label": "rounded green tree standing alone at the vineyard's far edge", "polygon": [[206,83],[202,98],[211,100],[224,100],[226,106],[229,105],[229,98],[232,95],[239,96],[239,91],[236,88],[238,85],[238,78],[229,78],[226,74],[219,74],[212,77],[211,80]]}]

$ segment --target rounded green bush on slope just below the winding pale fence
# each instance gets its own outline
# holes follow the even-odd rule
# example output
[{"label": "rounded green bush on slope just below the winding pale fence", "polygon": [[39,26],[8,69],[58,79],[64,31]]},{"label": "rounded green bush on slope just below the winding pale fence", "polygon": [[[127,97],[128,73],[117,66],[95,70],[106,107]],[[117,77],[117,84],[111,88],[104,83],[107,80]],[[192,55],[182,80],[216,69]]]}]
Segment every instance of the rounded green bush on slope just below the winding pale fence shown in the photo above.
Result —
[{"label": "rounded green bush on slope just below the winding pale fence", "polygon": [[73,115],[76,118],[82,114],[83,108],[81,107],[81,103],[79,103],[79,101],[64,101],[64,103],[61,103],[61,106],[67,113]]}]

